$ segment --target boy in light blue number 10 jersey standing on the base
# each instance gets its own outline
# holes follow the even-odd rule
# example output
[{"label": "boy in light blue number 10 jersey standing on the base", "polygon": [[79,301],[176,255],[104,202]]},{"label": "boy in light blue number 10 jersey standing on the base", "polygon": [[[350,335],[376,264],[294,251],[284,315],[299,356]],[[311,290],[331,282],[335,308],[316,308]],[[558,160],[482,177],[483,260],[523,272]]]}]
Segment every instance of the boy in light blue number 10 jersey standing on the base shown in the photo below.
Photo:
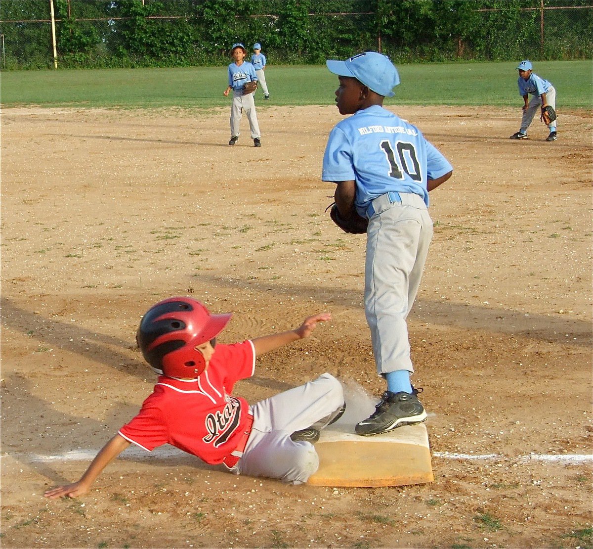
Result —
[{"label": "boy in light blue number 10 jersey standing on the base", "polygon": [[382,106],[400,82],[387,56],[366,52],[327,61],[327,68],[339,76],[340,114],[353,116],[331,131],[321,179],[336,183],[343,218],[356,208],[368,219],[365,314],[377,372],[387,380],[377,410],[356,425],[368,436],[426,419],[410,383],[406,317],[432,239],[428,193],[451,177],[452,167],[416,126]]}]

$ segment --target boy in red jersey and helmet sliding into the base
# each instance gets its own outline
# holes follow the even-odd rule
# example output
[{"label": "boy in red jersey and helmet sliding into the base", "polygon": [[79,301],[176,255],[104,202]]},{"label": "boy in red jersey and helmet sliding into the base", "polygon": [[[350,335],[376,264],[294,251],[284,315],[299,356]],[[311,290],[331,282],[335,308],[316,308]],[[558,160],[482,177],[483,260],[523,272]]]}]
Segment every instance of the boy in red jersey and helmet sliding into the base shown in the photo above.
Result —
[{"label": "boy in red jersey and helmet sliding into the base", "polygon": [[148,310],[136,340],[159,375],[138,415],[100,450],[80,480],[46,491],[52,499],[82,496],[130,443],[150,452],[170,444],[234,474],[302,484],[317,471],[313,443],[342,415],[341,383],[329,373],[249,405],[232,395],[253,376],[256,357],[308,337],[329,313],[299,328],[232,345],[216,344],[231,314],[212,315],[190,297],[172,297]]}]

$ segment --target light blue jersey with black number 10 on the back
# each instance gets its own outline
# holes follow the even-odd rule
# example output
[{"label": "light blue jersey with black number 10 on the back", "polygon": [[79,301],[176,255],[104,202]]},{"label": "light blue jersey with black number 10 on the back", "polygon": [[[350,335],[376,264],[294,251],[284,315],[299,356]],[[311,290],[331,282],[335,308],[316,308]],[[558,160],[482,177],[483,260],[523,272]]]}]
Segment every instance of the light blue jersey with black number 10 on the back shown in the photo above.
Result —
[{"label": "light blue jersey with black number 10 on the back", "polygon": [[374,105],[331,130],[321,180],[354,180],[356,210],[364,216],[372,200],[390,191],[420,195],[428,206],[426,180],[451,170],[416,126]]}]

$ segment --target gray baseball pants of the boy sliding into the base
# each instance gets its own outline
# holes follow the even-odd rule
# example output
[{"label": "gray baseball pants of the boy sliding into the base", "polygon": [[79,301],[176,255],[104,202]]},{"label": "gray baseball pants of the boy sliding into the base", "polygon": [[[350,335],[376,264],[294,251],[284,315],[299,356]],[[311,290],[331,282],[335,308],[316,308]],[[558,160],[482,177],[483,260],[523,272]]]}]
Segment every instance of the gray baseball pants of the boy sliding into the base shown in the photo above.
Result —
[{"label": "gray baseball pants of the boy sliding into the base", "polygon": [[329,373],[250,406],[253,427],[237,475],[279,478],[302,484],[317,471],[319,457],[310,442],[293,442],[294,431],[323,429],[344,404],[342,384]]}]

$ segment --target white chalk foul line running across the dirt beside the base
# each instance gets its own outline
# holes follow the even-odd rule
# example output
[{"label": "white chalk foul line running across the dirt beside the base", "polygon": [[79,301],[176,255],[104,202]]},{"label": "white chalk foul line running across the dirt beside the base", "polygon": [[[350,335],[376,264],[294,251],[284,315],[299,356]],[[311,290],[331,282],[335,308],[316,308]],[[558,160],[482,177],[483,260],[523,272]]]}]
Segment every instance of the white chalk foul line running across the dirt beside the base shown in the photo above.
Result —
[{"label": "white chalk foul line running across the dirt beside the base", "polygon": [[[25,461],[32,463],[48,463],[52,461],[91,461],[98,450],[72,450],[59,455],[41,455],[31,453],[3,453],[1,457],[12,457],[15,459],[25,459]],[[190,454],[178,450],[177,448],[160,448],[154,452],[145,452],[139,448],[129,448],[120,457],[123,459],[158,459],[158,458],[179,458],[189,457]],[[557,463],[593,463],[593,455],[578,454],[578,453],[562,453],[562,454],[539,454],[530,453],[528,455],[518,456],[512,458],[504,456],[499,453],[473,454],[473,453],[457,453],[457,452],[432,452],[433,458],[451,459],[456,461],[544,461]],[[196,458],[198,459],[198,458]]]}]

